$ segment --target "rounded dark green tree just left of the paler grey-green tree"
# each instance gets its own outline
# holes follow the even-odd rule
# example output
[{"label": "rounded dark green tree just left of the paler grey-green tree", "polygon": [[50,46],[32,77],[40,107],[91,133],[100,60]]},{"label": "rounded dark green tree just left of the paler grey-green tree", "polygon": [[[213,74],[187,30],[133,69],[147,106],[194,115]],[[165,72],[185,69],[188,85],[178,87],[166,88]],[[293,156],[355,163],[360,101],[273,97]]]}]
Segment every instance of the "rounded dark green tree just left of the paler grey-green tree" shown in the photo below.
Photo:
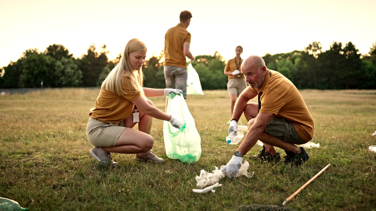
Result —
[{"label": "rounded dark green tree just left of the paler grey-green tree", "polygon": [[27,56],[22,62],[21,87],[41,87],[42,81],[44,87],[56,87],[55,62],[56,59],[45,54],[30,54]]}]

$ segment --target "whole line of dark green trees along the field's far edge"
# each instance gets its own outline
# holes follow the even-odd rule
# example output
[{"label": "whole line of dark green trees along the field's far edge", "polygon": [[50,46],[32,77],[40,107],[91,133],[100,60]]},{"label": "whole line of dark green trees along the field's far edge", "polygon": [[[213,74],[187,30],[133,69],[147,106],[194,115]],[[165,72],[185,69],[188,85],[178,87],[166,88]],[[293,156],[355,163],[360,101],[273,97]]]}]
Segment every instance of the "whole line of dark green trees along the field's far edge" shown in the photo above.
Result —
[{"label": "whole line of dark green trees along the field's far edge", "polygon": [[[96,50],[90,45],[87,54],[74,58],[63,45],[53,44],[44,51],[29,49],[20,59],[2,68],[0,88],[95,87],[119,62],[121,54],[109,61],[106,45]],[[143,66],[144,86],[165,88],[163,51]],[[298,89],[376,89],[376,42],[370,51],[359,54],[352,42],[333,42],[322,51],[320,42],[312,42],[304,50],[265,54],[265,64],[290,79]],[[213,56],[200,55],[192,63],[203,90],[226,89],[225,62],[216,51]]]}]

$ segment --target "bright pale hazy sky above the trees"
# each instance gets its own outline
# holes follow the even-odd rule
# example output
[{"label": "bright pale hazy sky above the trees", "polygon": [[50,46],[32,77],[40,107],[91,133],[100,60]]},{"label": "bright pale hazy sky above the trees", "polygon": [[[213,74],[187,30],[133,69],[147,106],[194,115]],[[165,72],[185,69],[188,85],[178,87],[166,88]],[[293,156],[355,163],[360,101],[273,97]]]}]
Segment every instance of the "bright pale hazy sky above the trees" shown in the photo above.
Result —
[{"label": "bright pale hazy sky above the trees", "polygon": [[376,42],[375,0],[0,0],[0,68],[30,48],[44,51],[62,44],[74,57],[89,45],[103,44],[110,60],[132,38],[148,48],[147,57],[164,48],[165,32],[192,13],[193,55],[218,51],[224,59],[244,48],[256,54],[303,50],[319,41],[323,50],[351,41],[361,54]]}]

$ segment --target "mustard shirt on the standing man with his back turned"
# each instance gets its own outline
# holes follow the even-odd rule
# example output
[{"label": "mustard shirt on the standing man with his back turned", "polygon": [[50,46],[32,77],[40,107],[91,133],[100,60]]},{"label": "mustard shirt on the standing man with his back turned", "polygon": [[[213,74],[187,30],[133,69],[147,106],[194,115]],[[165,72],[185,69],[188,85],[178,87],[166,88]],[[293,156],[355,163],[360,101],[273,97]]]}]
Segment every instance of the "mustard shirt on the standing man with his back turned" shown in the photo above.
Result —
[{"label": "mustard shirt on the standing man with his back turned", "polygon": [[183,44],[191,43],[191,34],[183,27],[182,24],[167,30],[165,34],[165,60],[164,66],[176,66],[186,68],[187,63],[183,53]]}]

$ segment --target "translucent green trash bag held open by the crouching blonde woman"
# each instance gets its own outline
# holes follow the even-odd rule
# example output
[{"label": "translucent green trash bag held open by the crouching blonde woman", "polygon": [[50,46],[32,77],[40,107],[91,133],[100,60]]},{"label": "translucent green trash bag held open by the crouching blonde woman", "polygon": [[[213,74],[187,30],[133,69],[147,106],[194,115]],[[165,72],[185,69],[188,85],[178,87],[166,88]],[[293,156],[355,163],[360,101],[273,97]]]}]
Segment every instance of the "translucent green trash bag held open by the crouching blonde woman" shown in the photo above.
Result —
[{"label": "translucent green trash bag held open by the crouching blonde woman", "polygon": [[201,137],[181,93],[168,95],[166,113],[184,124],[182,128],[177,129],[170,122],[164,121],[163,137],[167,157],[179,159],[183,163],[198,161],[201,156]]}]

